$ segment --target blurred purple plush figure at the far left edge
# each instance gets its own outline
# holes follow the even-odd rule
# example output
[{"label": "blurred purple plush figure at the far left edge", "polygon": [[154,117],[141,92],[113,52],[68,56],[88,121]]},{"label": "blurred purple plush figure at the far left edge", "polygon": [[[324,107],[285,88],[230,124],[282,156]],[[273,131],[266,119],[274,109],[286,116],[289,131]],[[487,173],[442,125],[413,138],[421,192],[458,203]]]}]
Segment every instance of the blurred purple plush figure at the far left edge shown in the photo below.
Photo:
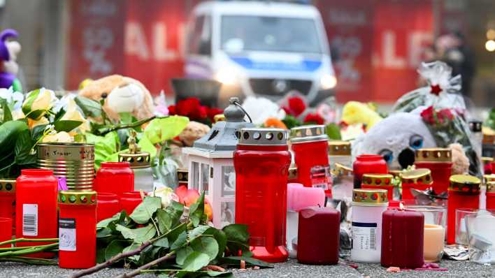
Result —
[{"label": "blurred purple plush figure at the far left edge", "polygon": [[21,50],[21,45],[17,41],[9,40],[17,38],[17,31],[6,29],[0,33],[0,59],[2,60],[0,68],[0,88],[13,87],[14,92],[22,92],[22,85],[15,77],[19,71],[17,65],[17,54]]}]

